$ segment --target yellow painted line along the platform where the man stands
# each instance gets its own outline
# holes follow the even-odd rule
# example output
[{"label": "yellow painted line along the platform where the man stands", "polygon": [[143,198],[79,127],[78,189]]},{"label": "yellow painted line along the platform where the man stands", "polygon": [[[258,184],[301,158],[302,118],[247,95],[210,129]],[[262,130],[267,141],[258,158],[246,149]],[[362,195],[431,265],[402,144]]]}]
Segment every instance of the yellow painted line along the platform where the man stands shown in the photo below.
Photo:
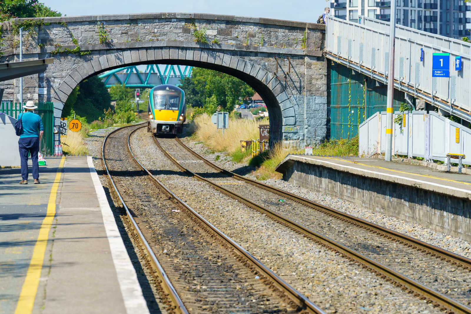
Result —
[{"label": "yellow painted line along the platform where the man stands", "polygon": [[34,299],[36,298],[36,292],[38,291],[39,279],[41,277],[42,262],[44,260],[44,252],[46,251],[46,245],[48,244],[49,230],[51,228],[54,216],[56,216],[56,196],[57,188],[59,187],[59,181],[61,177],[61,170],[64,166],[65,157],[62,157],[59,167],[57,168],[56,178],[52,185],[51,194],[49,195],[48,210],[46,217],[41,224],[39,230],[38,240],[34,245],[32,252],[32,258],[26,278],[24,278],[23,287],[21,288],[20,297],[16,304],[15,314],[31,313],[34,305]]}]

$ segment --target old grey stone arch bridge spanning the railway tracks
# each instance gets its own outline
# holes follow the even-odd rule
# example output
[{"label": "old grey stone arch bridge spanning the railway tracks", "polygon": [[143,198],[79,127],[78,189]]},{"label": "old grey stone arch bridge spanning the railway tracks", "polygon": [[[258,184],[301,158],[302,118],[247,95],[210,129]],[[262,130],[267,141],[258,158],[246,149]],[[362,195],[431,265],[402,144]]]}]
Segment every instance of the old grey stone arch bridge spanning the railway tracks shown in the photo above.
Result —
[{"label": "old grey stone arch bridge spanning the railway tracks", "polygon": [[[81,81],[154,63],[209,68],[245,81],[267,104],[274,141],[313,144],[326,136],[323,24],[190,13],[15,19],[3,24],[1,62],[19,60],[21,26],[23,60],[55,58],[46,72],[23,79],[24,100],[54,102],[56,126]],[[0,88],[4,98],[19,99],[19,79]]]}]

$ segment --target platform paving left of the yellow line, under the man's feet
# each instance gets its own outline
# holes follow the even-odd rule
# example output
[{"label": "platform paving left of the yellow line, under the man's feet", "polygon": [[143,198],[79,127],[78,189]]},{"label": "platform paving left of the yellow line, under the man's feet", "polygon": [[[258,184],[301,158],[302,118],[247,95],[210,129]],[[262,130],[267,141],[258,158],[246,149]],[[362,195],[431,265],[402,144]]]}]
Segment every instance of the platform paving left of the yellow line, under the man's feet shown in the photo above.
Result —
[{"label": "platform paving left of the yellow line, under the man's feet", "polygon": [[20,168],[0,169],[0,314],[14,313],[32,257],[60,157],[39,167],[41,184],[19,185]]}]

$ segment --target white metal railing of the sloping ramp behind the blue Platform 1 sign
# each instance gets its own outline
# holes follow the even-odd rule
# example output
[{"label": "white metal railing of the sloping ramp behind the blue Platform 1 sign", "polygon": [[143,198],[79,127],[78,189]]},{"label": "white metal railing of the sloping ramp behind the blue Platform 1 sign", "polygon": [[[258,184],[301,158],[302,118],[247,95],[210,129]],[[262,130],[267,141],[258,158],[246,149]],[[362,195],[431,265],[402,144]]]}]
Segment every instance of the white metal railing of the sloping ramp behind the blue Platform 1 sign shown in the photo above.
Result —
[{"label": "white metal railing of the sloping ramp behind the blue Platform 1 sign", "polygon": [[[361,23],[327,16],[327,57],[387,84],[389,22],[362,16]],[[394,87],[471,121],[471,43],[396,25],[395,44]],[[450,54],[449,78],[432,77],[433,53]]]}]

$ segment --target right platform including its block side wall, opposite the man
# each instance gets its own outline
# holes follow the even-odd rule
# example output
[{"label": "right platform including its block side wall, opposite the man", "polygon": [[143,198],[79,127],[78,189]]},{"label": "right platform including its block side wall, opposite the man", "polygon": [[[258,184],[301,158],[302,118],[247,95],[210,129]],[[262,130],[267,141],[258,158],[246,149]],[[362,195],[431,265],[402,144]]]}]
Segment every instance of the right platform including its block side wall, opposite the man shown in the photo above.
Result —
[{"label": "right platform including its block side wall, opposite the man", "polygon": [[471,242],[471,175],[407,162],[288,155],[284,180]]}]

